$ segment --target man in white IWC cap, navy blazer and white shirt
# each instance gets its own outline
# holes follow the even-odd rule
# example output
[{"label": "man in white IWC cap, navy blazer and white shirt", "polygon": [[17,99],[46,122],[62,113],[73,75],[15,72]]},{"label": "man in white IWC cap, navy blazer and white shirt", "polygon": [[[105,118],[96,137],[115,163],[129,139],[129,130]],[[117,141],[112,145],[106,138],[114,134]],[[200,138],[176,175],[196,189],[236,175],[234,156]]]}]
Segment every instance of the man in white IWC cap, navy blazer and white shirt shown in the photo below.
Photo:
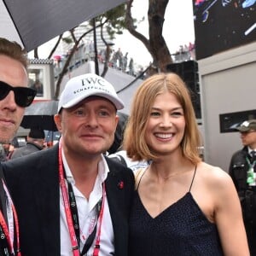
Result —
[{"label": "man in white IWC cap, navy blazer and white shirt", "polygon": [[127,255],[134,177],[103,156],[121,108],[105,79],[70,79],[55,115],[60,143],[6,163],[24,255]]}]

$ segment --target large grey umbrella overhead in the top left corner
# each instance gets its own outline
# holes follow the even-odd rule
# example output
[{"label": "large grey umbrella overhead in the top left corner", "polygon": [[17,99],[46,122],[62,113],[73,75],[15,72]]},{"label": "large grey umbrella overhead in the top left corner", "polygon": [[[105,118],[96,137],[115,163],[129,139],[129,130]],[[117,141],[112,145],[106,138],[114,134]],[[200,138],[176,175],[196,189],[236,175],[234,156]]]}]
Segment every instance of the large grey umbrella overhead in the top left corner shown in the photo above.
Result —
[{"label": "large grey umbrella overhead in the top left corner", "polygon": [[125,0],[3,0],[0,37],[30,51],[121,3]]}]

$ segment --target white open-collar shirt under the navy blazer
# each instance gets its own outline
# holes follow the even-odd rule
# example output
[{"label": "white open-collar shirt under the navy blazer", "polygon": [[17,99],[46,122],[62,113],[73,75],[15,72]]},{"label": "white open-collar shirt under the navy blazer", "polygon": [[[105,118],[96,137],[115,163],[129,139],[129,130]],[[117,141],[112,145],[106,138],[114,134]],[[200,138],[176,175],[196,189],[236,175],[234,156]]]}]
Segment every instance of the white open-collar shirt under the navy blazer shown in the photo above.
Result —
[{"label": "white open-collar shirt under the navy blazer", "polygon": [[[96,177],[96,183],[93,190],[90,193],[89,201],[82,195],[82,193],[77,189],[75,181],[73,179],[72,172],[70,171],[65,155],[62,151],[62,160],[64,169],[66,172],[66,177],[68,181],[73,186],[73,193],[77,202],[78,213],[79,213],[79,227],[81,230],[80,234],[80,248],[81,250],[84,247],[84,237],[87,237],[89,234],[89,229],[91,223],[94,223],[96,219],[96,204],[102,198],[102,183],[106,180],[108,176],[108,164],[102,155],[102,160],[98,165],[98,175]],[[102,230],[101,230],[101,241],[100,241],[100,253],[99,256],[113,255],[114,245],[113,245],[113,224],[110,217],[108,200],[107,196],[105,197],[104,211],[102,217]],[[63,198],[60,189],[60,207],[61,207],[61,256],[73,256],[72,245],[70,241],[66,212],[63,204]],[[97,225],[97,229],[99,225]],[[98,230],[97,230],[98,231]],[[97,232],[96,232],[97,234]],[[86,255],[90,256],[93,253],[93,249],[96,243],[96,238],[92,242],[91,247],[89,248]]]}]

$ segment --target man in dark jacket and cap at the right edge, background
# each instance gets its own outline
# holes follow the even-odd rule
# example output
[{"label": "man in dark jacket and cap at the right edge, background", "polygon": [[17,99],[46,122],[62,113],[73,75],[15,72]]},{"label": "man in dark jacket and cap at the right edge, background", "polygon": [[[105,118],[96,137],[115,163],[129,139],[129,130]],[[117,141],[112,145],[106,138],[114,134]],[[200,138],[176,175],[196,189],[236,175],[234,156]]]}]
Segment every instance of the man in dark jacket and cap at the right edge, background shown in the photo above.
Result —
[{"label": "man in dark jacket and cap at the right edge, background", "polygon": [[244,146],[230,161],[232,177],[241,201],[251,255],[256,255],[256,119],[249,119],[236,127]]}]

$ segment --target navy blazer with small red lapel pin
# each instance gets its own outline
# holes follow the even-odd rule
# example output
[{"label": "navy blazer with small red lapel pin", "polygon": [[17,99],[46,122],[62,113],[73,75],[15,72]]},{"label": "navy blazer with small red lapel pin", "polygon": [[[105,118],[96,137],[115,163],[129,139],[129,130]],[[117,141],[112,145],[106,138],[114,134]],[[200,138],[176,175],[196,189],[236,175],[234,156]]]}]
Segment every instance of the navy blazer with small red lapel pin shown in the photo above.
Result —
[{"label": "navy blazer with small red lapel pin", "polygon": [[[106,194],[113,222],[115,256],[128,253],[128,217],[134,190],[130,169],[106,158],[110,172]],[[53,148],[3,164],[20,223],[20,247],[25,256],[61,254],[58,144]],[[124,186],[120,187],[119,183]]]}]

